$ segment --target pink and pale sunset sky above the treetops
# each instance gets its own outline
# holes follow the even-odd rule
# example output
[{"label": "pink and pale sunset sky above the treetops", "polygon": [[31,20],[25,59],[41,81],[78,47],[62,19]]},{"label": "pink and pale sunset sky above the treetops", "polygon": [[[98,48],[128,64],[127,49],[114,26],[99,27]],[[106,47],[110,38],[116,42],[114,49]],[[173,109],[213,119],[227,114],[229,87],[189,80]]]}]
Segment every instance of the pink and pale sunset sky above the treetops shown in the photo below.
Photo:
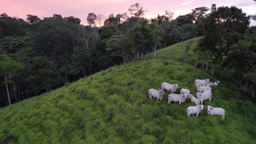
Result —
[{"label": "pink and pale sunset sky above the treetops", "polygon": [[[220,6],[235,5],[247,15],[256,14],[256,4],[253,0],[0,0],[0,13],[26,20],[27,14],[37,15],[40,19],[60,14],[62,17],[74,16],[82,20],[84,25],[89,13],[121,14],[128,13],[131,4],[139,3],[147,10],[145,16],[150,19],[158,14],[163,15],[165,10],[172,11],[174,18],[190,13],[197,7],[211,8],[212,4]],[[256,25],[256,22],[252,22]]]}]

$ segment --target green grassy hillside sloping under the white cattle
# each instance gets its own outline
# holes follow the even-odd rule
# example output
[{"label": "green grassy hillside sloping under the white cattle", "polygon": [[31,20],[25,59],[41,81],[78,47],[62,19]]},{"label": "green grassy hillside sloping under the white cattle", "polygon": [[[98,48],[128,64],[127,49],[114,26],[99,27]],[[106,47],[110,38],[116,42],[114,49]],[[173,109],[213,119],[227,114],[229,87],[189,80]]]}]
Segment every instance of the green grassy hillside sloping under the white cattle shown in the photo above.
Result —
[{"label": "green grassy hillside sloping under the white cattle", "polygon": [[[199,39],[191,39],[192,49]],[[188,118],[186,109],[194,105],[190,100],[168,104],[167,94],[162,101],[148,99],[148,89],[164,81],[195,93],[195,79],[216,80],[191,65],[193,51],[188,63],[173,61],[180,47],[166,47],[156,59],[151,54],[147,61],[112,67],[13,109],[0,109],[0,143],[256,143],[256,106],[229,82],[213,87],[212,102],[204,102],[223,107],[224,121],[207,116],[206,110]]]}]

